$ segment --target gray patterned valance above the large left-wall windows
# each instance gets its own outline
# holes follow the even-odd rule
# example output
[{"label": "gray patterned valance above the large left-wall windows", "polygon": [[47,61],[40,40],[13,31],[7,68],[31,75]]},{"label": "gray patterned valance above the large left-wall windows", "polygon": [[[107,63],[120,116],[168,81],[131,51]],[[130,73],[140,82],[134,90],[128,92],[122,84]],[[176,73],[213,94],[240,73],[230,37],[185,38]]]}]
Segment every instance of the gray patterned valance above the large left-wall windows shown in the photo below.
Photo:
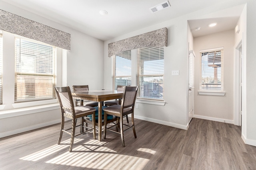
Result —
[{"label": "gray patterned valance above the large left-wall windows", "polygon": [[36,21],[0,10],[0,29],[70,50],[71,35]]}]

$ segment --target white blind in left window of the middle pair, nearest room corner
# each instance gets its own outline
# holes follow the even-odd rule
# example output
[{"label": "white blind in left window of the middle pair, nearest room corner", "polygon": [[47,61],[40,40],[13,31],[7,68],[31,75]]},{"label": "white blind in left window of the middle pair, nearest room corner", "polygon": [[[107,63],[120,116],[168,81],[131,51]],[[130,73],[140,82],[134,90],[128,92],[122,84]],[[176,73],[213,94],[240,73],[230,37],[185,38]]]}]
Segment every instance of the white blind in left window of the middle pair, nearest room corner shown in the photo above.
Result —
[{"label": "white blind in left window of the middle pair, nearest room corner", "polygon": [[131,74],[131,51],[115,55],[112,59],[113,90],[116,90],[117,85],[130,86]]}]

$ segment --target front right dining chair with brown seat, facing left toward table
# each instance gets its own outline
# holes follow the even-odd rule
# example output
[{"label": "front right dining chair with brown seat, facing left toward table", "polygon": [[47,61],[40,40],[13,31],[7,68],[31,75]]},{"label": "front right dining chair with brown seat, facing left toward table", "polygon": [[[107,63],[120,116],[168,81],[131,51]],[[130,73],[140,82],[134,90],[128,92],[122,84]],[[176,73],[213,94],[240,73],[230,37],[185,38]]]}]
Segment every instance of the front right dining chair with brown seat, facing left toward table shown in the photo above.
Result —
[{"label": "front right dining chair with brown seat, facing left toward table", "polygon": [[[111,128],[116,126],[112,125],[110,127],[107,127],[107,121],[104,121],[104,139],[106,139],[106,130],[110,130],[116,133],[119,133],[121,135],[121,140],[122,140],[122,145],[124,145],[124,131],[130,129],[132,127],[134,137],[137,138],[136,132],[135,132],[135,125],[134,125],[134,104],[136,100],[138,92],[138,86],[126,86],[124,87],[124,93],[122,96],[122,104],[121,105],[113,105],[109,107],[105,107],[104,110],[104,119],[106,120],[107,115],[113,115],[115,117],[118,117],[118,124],[120,127],[120,132],[119,128],[117,131],[112,130]],[[123,123],[123,117],[132,114],[132,125],[126,125]],[[126,129],[124,129],[124,125],[128,126]]]}]

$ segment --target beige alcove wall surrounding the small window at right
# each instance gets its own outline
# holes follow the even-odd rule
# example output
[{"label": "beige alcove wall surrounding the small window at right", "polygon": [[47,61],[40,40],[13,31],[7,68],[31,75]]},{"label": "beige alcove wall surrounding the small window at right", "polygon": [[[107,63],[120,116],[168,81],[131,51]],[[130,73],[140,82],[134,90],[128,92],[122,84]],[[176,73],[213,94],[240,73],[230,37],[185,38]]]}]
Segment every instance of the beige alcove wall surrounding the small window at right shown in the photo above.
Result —
[{"label": "beige alcove wall surrounding the small window at right", "polygon": [[[199,95],[200,50],[224,47],[224,96]],[[195,94],[194,117],[233,123],[234,30],[194,38]],[[207,117],[207,118],[206,118]]]}]

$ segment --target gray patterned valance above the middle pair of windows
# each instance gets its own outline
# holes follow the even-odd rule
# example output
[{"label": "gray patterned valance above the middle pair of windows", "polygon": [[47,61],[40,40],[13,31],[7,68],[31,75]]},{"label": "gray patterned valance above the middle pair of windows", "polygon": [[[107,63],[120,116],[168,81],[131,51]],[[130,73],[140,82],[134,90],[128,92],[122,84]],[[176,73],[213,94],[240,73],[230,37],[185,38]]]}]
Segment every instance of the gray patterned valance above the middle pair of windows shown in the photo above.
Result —
[{"label": "gray patterned valance above the middle pair of windows", "polygon": [[158,29],[135,37],[109,43],[108,57],[131,49],[164,46],[167,46],[167,28]]}]

